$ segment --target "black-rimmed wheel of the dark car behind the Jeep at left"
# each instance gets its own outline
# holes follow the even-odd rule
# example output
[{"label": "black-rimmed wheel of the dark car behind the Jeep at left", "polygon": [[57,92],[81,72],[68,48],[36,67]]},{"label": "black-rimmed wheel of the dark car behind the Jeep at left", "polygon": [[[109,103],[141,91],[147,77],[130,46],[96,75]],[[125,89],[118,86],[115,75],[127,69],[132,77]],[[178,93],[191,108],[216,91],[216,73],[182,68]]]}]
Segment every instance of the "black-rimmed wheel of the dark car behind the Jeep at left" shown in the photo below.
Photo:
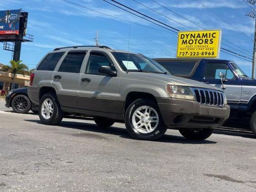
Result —
[{"label": "black-rimmed wheel of the dark car behind the Jeep at left", "polygon": [[31,101],[26,95],[16,95],[11,102],[15,113],[28,113],[31,109]]}]

